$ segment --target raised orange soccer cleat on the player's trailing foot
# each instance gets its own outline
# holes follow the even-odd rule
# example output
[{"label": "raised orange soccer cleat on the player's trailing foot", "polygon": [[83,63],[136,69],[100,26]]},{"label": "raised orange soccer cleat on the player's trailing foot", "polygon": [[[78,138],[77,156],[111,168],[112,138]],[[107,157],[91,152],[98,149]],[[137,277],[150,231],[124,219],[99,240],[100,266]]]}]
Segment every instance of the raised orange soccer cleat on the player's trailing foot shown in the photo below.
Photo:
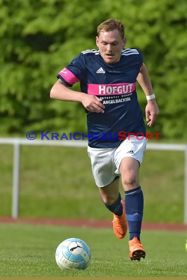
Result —
[{"label": "raised orange soccer cleat on the player's trailing foot", "polygon": [[122,239],[126,235],[127,231],[127,223],[126,223],[126,215],[125,215],[125,200],[121,200],[123,206],[123,214],[122,216],[117,216],[114,214],[114,218],[112,220],[113,230],[117,238]]}]

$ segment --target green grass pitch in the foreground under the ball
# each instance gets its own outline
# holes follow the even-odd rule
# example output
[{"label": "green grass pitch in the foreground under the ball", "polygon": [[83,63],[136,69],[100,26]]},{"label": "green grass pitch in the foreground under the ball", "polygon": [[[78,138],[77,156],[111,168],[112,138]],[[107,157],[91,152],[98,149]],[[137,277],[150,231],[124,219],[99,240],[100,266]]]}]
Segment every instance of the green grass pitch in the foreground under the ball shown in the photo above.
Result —
[{"label": "green grass pitch in the foreground under the ball", "polygon": [[[61,271],[55,251],[62,240],[87,242],[92,260],[85,271]],[[0,277],[187,277],[186,233],[143,231],[147,256],[131,262],[128,240],[112,229],[0,224]]]}]

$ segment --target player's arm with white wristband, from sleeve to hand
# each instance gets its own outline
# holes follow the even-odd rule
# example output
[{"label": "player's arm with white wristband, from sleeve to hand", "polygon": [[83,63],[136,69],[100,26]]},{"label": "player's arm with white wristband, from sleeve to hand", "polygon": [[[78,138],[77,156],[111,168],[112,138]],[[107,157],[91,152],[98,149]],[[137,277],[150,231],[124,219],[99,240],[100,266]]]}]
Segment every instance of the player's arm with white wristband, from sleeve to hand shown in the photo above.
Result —
[{"label": "player's arm with white wristband, from sleeve to hand", "polygon": [[148,101],[148,104],[146,106],[146,121],[148,121],[147,125],[151,127],[156,120],[156,116],[159,113],[159,110],[156,104],[156,98],[153,92],[149,73],[144,63],[137,76],[137,81],[142,87]]}]

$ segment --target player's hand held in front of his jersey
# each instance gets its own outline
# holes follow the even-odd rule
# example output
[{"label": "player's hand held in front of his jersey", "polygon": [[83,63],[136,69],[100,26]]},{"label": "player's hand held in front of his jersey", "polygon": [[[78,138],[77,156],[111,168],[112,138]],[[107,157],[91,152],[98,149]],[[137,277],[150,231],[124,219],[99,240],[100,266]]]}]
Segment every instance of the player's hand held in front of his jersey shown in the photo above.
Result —
[{"label": "player's hand held in front of his jersey", "polygon": [[104,105],[102,99],[95,95],[85,94],[82,104],[89,112],[104,113]]}]

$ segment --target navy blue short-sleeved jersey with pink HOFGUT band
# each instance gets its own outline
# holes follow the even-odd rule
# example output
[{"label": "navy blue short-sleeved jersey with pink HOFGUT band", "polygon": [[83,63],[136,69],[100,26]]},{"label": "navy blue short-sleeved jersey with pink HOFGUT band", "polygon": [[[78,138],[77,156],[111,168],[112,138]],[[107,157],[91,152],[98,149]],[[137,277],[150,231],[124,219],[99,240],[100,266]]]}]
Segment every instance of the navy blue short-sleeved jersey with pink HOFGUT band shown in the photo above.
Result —
[{"label": "navy blue short-sleeved jersey with pink HOFGUT band", "polygon": [[57,75],[64,84],[80,82],[82,92],[103,99],[104,113],[86,110],[90,147],[118,147],[130,133],[145,135],[136,94],[142,64],[143,57],[137,49],[123,49],[120,61],[114,64],[105,63],[99,51],[87,50]]}]

